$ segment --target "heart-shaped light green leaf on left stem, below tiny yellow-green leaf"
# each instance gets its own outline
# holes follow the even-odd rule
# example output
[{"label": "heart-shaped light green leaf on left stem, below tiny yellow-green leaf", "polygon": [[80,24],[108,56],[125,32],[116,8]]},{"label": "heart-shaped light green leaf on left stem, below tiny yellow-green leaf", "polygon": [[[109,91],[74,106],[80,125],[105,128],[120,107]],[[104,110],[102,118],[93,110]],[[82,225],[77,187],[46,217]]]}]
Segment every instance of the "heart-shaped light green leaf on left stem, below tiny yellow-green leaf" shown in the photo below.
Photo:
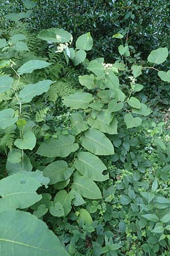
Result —
[{"label": "heart-shaped light green leaf on left stem, below tiny yellow-green leaf", "polygon": [[33,150],[36,145],[36,137],[32,131],[26,131],[22,139],[16,139],[14,145],[20,149]]}]

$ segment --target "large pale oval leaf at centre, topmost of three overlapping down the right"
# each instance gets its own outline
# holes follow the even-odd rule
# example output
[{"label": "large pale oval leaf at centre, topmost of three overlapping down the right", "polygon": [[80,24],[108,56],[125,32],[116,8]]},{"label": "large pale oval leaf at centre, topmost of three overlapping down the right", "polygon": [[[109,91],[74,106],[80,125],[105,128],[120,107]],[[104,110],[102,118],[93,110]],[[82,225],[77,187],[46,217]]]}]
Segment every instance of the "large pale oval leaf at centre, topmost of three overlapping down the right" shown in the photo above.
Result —
[{"label": "large pale oval leaf at centre, topmost of three overlapping down the right", "polygon": [[81,137],[82,146],[95,155],[112,155],[114,154],[114,147],[111,141],[94,128],[90,128],[84,132]]}]

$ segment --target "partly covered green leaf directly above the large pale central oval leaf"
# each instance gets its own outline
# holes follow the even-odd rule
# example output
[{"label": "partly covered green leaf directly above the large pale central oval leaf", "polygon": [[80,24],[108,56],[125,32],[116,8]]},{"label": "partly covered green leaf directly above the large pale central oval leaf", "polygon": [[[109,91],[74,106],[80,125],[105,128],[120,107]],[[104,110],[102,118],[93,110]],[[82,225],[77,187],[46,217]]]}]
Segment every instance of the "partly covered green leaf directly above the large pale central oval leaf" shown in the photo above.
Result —
[{"label": "partly covered green leaf directly above the large pale central oval leaf", "polygon": [[93,119],[92,117],[88,118],[88,125],[100,131],[103,131],[103,133],[117,134],[117,119],[113,118],[113,121],[108,125],[105,119],[105,113],[106,110],[103,110],[96,114],[95,119]]}]

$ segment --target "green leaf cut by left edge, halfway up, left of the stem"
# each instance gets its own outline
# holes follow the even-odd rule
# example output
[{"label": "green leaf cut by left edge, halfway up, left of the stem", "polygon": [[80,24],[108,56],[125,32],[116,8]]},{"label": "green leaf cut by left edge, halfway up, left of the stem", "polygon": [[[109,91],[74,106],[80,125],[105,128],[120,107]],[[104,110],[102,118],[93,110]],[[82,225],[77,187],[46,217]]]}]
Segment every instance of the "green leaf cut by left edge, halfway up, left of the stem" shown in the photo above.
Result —
[{"label": "green leaf cut by left edge, halfway up, left of the stem", "polygon": [[5,129],[8,126],[14,125],[18,117],[14,117],[14,109],[5,109],[0,111],[0,129]]}]

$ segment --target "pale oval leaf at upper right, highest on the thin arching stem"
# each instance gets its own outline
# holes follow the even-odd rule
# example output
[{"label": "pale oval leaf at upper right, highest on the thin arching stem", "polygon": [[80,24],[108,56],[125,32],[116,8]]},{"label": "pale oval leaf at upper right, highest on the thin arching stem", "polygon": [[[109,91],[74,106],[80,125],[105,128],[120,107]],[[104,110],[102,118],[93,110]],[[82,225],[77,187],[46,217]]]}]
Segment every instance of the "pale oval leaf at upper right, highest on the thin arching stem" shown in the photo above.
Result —
[{"label": "pale oval leaf at upper right, highest on the thin arching stem", "polygon": [[168,49],[167,47],[160,47],[151,51],[150,55],[147,57],[147,60],[151,63],[161,64],[168,57]]}]

